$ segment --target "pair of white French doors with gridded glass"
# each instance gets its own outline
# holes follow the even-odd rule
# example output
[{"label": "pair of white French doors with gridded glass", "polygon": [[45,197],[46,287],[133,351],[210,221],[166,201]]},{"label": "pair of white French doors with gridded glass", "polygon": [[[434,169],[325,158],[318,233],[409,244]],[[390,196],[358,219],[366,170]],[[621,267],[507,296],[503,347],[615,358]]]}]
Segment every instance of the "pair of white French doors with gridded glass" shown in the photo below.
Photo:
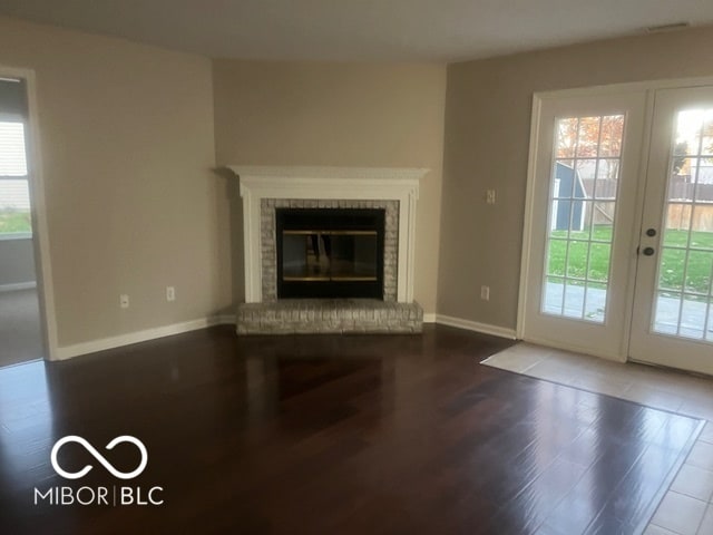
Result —
[{"label": "pair of white French doors with gridded glass", "polygon": [[536,104],[520,337],[713,373],[713,89]]}]

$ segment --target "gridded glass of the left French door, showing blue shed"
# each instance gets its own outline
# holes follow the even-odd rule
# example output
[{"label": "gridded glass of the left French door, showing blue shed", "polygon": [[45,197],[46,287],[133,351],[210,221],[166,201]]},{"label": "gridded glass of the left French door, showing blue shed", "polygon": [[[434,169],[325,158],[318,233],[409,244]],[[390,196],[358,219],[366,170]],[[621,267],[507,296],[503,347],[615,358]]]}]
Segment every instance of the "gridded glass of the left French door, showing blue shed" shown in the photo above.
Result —
[{"label": "gridded glass of the left French door, showing blue shed", "polygon": [[543,313],[606,319],[623,134],[624,115],[557,119]]}]

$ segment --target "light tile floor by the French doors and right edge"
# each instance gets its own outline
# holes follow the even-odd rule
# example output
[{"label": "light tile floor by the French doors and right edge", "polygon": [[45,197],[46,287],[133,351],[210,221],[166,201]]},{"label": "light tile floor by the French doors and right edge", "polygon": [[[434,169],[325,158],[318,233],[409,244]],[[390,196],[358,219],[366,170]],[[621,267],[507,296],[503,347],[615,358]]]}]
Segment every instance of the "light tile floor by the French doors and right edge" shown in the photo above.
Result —
[{"label": "light tile floor by the French doors and right edge", "polygon": [[525,342],[482,363],[707,420],[644,535],[713,534],[713,378]]}]

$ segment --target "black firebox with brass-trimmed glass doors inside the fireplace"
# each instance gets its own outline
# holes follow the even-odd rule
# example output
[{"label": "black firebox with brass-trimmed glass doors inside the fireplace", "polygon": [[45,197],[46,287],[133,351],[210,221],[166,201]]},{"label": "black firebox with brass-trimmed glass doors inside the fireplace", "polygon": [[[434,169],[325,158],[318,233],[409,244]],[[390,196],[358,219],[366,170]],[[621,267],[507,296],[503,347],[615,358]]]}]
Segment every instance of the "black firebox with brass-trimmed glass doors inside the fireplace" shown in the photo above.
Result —
[{"label": "black firebox with brass-trimmed glass doors inside the fireplace", "polygon": [[383,300],[384,210],[277,208],[277,298]]}]

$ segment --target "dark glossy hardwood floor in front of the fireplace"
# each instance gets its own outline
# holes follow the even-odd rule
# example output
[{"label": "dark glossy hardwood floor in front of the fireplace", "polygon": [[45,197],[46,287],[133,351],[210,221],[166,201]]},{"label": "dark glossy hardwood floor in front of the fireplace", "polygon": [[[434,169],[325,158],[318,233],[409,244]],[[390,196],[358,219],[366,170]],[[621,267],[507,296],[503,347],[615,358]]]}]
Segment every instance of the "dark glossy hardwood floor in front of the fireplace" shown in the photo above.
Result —
[{"label": "dark glossy hardwood floor in front of the fireplace", "polygon": [[[478,364],[509,343],[214,328],[0,369],[0,533],[641,533],[701,422]],[[68,435],[146,469],[70,442],[65,479]]]}]

